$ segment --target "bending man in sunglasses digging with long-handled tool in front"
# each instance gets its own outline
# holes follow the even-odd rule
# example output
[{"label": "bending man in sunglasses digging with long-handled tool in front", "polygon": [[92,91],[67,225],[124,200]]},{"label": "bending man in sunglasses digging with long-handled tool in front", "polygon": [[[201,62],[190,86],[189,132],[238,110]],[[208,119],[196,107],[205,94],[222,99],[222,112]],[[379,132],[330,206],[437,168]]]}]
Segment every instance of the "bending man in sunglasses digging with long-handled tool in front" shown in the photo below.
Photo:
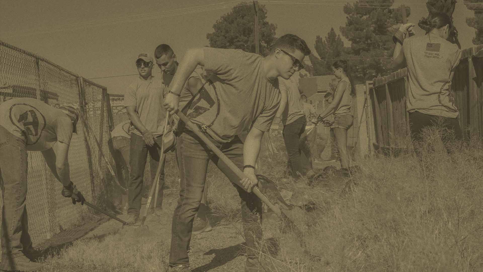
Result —
[{"label": "bending man in sunglasses digging with long-handled tool in front", "polygon": [[[278,77],[289,79],[298,69],[310,49],[304,40],[286,34],[274,43],[270,55],[262,57],[240,49],[189,49],[178,66],[163,106],[175,114],[181,91],[197,65],[212,76],[189,108],[187,117],[197,124],[211,142],[238,166],[247,177],[237,175],[220,160],[192,131],[177,137],[177,157],[181,190],[174,210],[171,228],[169,272],[190,272],[187,249],[191,239],[193,219],[199,209],[211,160],[235,184],[241,198],[242,226],[246,241],[245,271],[257,272],[256,250],[262,237],[262,203],[252,193],[258,184],[255,163],[263,134],[269,131],[280,105]],[[196,98],[196,97],[195,97]],[[242,141],[238,135],[248,131]]]}]

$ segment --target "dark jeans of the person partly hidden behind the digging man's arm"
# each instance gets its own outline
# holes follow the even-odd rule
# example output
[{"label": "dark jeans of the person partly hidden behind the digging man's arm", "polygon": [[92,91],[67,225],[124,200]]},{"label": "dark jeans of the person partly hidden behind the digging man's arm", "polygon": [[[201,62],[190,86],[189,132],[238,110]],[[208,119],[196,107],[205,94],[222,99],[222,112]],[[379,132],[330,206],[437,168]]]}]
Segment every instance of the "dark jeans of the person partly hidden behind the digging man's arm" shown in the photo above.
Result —
[{"label": "dark jeans of the person partly hidden behind the digging man's arm", "polygon": [[[300,136],[305,131],[305,125],[305,116],[302,116],[297,120],[284,125],[284,131],[282,133],[284,136],[285,148],[287,149],[288,165],[292,177],[294,178],[300,176],[297,172],[301,175],[305,175],[307,171],[312,169],[310,162],[308,161],[308,158],[311,155],[310,148],[307,148],[305,143],[301,145],[302,149],[300,149],[299,146]],[[307,151],[307,149],[309,151]],[[302,153],[304,153],[304,155],[301,156]]]}]

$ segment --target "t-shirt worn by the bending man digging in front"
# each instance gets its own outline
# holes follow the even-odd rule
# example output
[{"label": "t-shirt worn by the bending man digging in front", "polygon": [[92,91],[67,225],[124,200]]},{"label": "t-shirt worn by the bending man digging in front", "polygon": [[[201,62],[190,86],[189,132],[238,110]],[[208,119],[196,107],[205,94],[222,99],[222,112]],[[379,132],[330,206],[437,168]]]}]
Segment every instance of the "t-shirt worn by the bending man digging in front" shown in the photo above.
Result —
[{"label": "t-shirt worn by the bending man digging in front", "polygon": [[213,73],[195,96],[188,119],[203,125],[219,142],[252,126],[269,131],[280,105],[278,79],[269,80],[263,57],[240,49],[205,47],[205,70]]}]

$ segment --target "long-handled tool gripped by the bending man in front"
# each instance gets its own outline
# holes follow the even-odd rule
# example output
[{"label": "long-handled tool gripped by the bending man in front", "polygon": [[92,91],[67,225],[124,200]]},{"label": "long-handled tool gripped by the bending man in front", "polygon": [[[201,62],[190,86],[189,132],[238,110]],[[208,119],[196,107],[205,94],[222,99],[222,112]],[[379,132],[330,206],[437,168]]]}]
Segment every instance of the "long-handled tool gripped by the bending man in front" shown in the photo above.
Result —
[{"label": "long-handled tool gripped by the bending man in front", "polygon": [[[230,159],[228,159],[228,157],[225,154],[223,154],[223,152],[220,151],[201,131],[199,131],[198,127],[193,122],[191,122],[188,118],[186,118],[185,114],[183,114],[181,111],[178,111],[178,113],[176,114],[179,116],[181,121],[185,122],[185,124],[197,136],[201,138],[201,140],[208,146],[208,148],[210,148],[218,156],[218,158],[220,158],[228,167],[230,167],[230,170],[233,171],[240,178],[240,181],[246,178],[243,172],[241,172],[241,170],[237,166],[235,166],[235,164],[232,161],[230,161]],[[243,188],[243,186],[241,186],[240,181],[236,182],[236,184],[241,188]],[[265,203],[265,205],[267,205],[270,208],[270,210],[272,210],[275,214],[277,214],[282,219],[286,227],[294,231],[294,233],[297,235],[298,239],[300,240],[301,246],[304,248],[303,254],[305,256],[308,256],[311,260],[320,260],[321,259],[320,257],[310,254],[309,251],[307,250],[306,244],[303,240],[303,233],[297,227],[297,225],[295,225],[295,223],[277,206],[273,205],[273,203],[270,202],[270,199],[264,194],[262,194],[262,192],[260,192],[260,189],[258,189],[257,186],[253,187],[252,191],[256,196],[258,196],[258,198],[260,198],[260,200],[263,201],[263,203]]]}]

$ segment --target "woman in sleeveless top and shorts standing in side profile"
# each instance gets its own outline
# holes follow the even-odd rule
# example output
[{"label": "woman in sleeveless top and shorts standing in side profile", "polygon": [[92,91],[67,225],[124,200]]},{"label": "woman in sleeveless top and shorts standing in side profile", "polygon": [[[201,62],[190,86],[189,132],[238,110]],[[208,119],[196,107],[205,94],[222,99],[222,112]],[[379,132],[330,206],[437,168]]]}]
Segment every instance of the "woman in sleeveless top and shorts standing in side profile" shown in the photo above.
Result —
[{"label": "woman in sleeveless top and shorts standing in side profile", "polygon": [[352,126],[354,116],[351,113],[352,98],[355,96],[354,85],[351,79],[349,65],[345,60],[337,60],[332,64],[332,72],[340,79],[334,93],[334,99],[327,108],[319,115],[324,120],[332,113],[334,114],[334,134],[341,159],[341,172],[349,177],[349,153],[347,151],[347,131]]}]

